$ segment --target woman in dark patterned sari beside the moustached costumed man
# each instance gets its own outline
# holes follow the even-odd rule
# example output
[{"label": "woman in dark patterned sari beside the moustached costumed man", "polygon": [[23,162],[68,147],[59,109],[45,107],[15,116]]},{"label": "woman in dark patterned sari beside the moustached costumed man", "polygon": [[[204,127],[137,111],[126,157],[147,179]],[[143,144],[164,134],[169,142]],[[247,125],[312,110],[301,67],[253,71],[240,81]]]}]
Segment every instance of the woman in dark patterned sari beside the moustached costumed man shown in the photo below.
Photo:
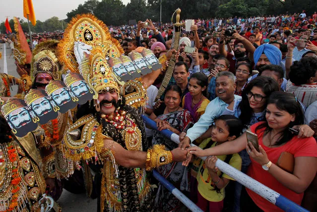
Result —
[{"label": "woman in dark patterned sari beside the moustached costumed man", "polygon": [[[154,110],[150,118],[157,123],[158,131],[154,131],[152,144],[164,144],[168,150],[178,148],[172,140],[160,134],[160,130],[169,129],[176,134],[186,132],[193,122],[190,112],[180,106],[182,90],[177,85],[168,86],[165,91],[164,111]],[[170,181],[183,193],[189,193],[189,168],[182,165],[182,162],[174,162],[157,168],[157,171]],[[178,211],[182,208],[182,203],[162,185],[155,198],[155,208],[157,211]]]}]

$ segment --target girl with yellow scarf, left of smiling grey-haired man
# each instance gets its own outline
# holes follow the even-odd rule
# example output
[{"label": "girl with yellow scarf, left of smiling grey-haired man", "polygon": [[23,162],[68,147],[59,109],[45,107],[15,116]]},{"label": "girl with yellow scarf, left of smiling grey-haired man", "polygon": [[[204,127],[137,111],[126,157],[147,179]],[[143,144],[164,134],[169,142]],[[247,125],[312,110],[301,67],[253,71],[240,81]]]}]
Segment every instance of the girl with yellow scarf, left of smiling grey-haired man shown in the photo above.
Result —
[{"label": "girl with yellow scarf, left of smiling grey-haired man", "polygon": [[206,98],[206,89],[208,86],[208,78],[203,73],[194,73],[190,76],[188,83],[189,93],[183,98],[182,105],[184,109],[190,111],[190,115],[194,122],[205,112],[209,100]]}]

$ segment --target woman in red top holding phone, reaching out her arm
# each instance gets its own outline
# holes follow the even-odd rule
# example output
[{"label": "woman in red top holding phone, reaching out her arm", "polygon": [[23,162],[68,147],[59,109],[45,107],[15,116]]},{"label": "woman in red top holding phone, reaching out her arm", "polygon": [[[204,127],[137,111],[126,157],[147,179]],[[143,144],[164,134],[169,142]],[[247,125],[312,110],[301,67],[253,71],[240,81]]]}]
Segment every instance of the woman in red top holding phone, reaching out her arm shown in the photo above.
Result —
[{"label": "woman in red top holding phone, reaching out her arm", "polygon": [[[313,181],[317,171],[317,144],[316,140],[310,137],[313,132],[308,126],[301,125],[304,123],[303,110],[293,94],[273,92],[268,100],[265,118],[265,122],[258,122],[249,129],[258,136],[259,152],[252,144],[250,147],[247,145],[247,137],[243,134],[232,142],[211,149],[190,148],[193,150],[190,153],[199,157],[228,155],[246,148],[252,161],[247,174],[300,205],[304,191]],[[295,125],[301,125],[299,135],[288,129]],[[310,138],[299,138],[303,134]],[[288,152],[295,158],[293,173],[276,165],[283,152]],[[246,191],[241,195],[242,212],[282,211],[253,191]]]}]

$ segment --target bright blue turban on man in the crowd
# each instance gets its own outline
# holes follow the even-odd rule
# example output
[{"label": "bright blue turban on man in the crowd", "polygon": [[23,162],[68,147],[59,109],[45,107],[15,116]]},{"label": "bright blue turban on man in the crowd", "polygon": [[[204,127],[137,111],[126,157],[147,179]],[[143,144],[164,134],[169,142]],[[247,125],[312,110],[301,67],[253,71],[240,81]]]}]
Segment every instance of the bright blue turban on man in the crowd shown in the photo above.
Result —
[{"label": "bright blue turban on man in the crowd", "polygon": [[281,51],[271,45],[271,44],[262,44],[254,52],[254,63],[256,64],[261,54],[264,53],[271,64],[278,65],[282,60]]}]

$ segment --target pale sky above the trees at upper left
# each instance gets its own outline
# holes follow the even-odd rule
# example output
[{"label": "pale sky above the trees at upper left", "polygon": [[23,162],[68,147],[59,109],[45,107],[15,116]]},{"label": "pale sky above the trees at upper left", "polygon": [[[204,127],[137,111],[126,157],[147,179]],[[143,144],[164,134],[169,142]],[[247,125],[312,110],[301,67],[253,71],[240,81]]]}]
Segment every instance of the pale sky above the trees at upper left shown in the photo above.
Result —
[{"label": "pale sky above the trees at upper left", "polygon": [[[36,20],[45,21],[48,18],[57,16],[60,19],[67,18],[66,13],[76,9],[78,4],[83,4],[86,0],[32,0]],[[122,0],[127,4],[130,0]],[[6,17],[12,19],[14,16],[23,17],[23,0],[5,0],[0,6],[0,22]],[[25,19],[26,20],[26,19]]]}]

